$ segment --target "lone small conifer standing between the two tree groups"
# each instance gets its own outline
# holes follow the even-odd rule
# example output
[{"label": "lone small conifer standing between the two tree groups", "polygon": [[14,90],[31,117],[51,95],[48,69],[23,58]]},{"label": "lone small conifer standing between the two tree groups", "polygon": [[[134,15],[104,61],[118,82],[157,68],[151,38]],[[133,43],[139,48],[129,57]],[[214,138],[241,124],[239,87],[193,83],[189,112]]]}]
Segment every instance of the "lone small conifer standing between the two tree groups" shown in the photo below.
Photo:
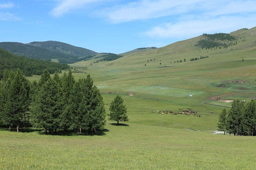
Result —
[{"label": "lone small conifer standing between the two tree groups", "polygon": [[116,98],[111,101],[108,114],[109,118],[108,120],[111,121],[117,121],[117,126],[119,125],[119,122],[128,121],[127,108],[123,104],[124,100],[121,96],[117,94]]}]

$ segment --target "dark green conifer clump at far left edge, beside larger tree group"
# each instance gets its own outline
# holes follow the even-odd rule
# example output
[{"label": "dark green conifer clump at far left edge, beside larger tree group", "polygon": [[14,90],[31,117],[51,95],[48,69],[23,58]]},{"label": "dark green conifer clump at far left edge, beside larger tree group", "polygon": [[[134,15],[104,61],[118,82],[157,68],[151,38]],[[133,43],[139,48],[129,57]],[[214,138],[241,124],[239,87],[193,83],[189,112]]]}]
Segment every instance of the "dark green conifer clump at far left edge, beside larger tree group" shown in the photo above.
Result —
[{"label": "dark green conifer clump at far left edge, beside larger tree group", "polygon": [[25,112],[29,107],[29,81],[24,77],[20,69],[5,71],[1,85],[1,115],[4,124],[17,127],[24,120]]}]

